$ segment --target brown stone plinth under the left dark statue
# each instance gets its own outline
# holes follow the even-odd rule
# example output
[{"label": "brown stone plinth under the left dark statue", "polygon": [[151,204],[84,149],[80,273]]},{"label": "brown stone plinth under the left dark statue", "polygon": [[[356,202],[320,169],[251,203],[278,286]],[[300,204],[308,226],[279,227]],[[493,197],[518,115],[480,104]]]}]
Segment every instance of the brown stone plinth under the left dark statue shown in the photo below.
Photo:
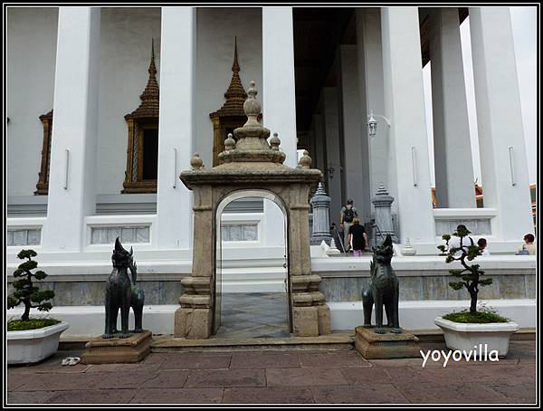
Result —
[{"label": "brown stone plinth under the left dark statue", "polygon": [[133,334],[128,339],[91,339],[81,356],[83,364],[121,364],[139,362],[151,352],[151,331]]}]

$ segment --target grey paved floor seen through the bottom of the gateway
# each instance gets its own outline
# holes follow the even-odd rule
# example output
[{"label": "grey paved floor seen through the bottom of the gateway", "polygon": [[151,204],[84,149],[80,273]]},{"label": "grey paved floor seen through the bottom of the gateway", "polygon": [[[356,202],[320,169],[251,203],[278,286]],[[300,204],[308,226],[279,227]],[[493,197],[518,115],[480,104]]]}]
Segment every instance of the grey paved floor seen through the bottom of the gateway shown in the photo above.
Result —
[{"label": "grey paved floor seen through the bottom of the gateway", "polygon": [[288,304],[288,297],[284,292],[225,293],[221,327],[216,337],[289,337]]}]

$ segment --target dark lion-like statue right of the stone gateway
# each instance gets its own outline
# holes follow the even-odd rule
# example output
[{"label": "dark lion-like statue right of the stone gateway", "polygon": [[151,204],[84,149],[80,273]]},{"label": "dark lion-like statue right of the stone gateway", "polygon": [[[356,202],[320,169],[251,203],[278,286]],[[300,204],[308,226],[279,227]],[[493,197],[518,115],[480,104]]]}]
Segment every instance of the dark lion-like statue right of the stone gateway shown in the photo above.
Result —
[{"label": "dark lion-like statue right of the stone gateway", "polygon": [[393,255],[392,237],[386,235],[383,244],[374,248],[373,261],[370,264],[371,282],[362,292],[364,306],[364,327],[371,327],[371,311],[374,303],[376,307],[376,333],[384,334],[383,305],[385,305],[386,327],[391,327],[392,332],[399,334],[400,321],[398,318],[399,283],[392,269]]}]

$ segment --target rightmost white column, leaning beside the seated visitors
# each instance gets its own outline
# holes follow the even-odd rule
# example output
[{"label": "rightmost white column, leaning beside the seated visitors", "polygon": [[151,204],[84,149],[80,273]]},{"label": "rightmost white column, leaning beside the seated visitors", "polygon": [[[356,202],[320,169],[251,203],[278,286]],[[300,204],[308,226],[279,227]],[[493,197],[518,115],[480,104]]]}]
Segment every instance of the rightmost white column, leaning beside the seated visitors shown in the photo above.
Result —
[{"label": "rightmost white column, leaning beside the seated visitors", "polygon": [[534,228],[509,8],[470,7],[470,30],[484,206],[498,209],[492,234],[518,244]]}]

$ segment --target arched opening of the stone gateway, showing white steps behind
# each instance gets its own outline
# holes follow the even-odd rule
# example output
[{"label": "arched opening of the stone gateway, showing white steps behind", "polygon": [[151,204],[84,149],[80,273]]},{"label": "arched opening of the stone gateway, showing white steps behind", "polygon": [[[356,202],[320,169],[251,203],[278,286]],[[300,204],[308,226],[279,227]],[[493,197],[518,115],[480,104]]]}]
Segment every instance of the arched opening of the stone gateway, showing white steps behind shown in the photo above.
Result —
[{"label": "arched opening of the stone gateway, showing white steps behind", "polygon": [[214,336],[291,335],[288,214],[265,190],[226,196],[215,214]]}]

